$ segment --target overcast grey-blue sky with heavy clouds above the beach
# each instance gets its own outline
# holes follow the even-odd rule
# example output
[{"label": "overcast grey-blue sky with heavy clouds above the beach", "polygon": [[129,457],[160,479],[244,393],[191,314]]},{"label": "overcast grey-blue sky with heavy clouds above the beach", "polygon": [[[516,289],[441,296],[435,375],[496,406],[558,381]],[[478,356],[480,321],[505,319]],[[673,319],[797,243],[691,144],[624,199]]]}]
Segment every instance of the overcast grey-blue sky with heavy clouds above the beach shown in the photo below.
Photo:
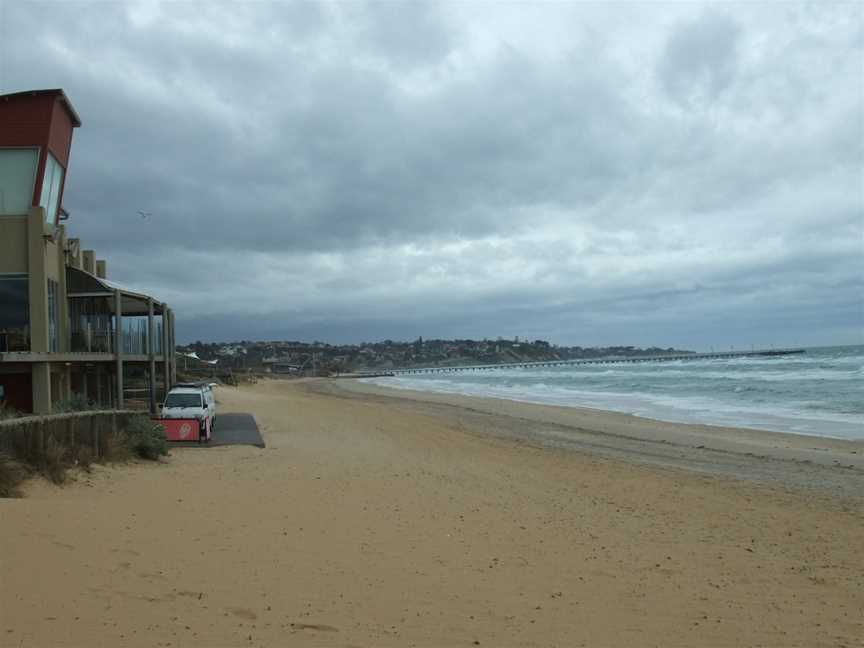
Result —
[{"label": "overcast grey-blue sky with heavy clouds above the beach", "polygon": [[860,4],[0,0],[55,87],[180,341],[864,343]]}]

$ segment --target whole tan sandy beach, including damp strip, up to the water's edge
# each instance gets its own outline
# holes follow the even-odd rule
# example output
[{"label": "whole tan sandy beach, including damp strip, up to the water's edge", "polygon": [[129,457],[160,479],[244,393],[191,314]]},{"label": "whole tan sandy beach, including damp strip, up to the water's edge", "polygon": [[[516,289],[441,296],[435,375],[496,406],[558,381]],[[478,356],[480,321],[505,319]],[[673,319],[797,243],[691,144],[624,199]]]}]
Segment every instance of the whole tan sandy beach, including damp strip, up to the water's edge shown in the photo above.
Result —
[{"label": "whole tan sandy beach, including damp strip, up to the water's edge", "polygon": [[862,645],[862,444],[406,396],[220,389],[266,449],[0,500],[0,646]]}]

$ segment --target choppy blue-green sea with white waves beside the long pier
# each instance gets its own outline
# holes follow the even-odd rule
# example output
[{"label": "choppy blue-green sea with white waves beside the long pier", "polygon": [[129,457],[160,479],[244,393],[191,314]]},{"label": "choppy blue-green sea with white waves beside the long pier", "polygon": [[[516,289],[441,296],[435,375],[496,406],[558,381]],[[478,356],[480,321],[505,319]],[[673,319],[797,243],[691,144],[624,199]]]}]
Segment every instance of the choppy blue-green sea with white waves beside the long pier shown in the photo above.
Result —
[{"label": "choppy blue-green sea with white waves beside the long pier", "polygon": [[864,440],[864,346],[790,356],[375,378],[402,389]]}]

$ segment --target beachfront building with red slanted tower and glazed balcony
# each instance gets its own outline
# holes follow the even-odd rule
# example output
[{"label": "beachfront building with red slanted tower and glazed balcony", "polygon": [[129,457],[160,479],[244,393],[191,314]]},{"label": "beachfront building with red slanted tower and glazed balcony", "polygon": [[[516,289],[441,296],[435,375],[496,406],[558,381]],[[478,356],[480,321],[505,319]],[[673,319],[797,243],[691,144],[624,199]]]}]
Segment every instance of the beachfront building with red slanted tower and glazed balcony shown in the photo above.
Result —
[{"label": "beachfront building with red slanted tower and glazed balcony", "polygon": [[63,192],[80,125],[62,90],[0,95],[0,403],[49,413],[80,394],[155,411],[175,382],[173,313],[109,281],[106,262],[68,236]]}]

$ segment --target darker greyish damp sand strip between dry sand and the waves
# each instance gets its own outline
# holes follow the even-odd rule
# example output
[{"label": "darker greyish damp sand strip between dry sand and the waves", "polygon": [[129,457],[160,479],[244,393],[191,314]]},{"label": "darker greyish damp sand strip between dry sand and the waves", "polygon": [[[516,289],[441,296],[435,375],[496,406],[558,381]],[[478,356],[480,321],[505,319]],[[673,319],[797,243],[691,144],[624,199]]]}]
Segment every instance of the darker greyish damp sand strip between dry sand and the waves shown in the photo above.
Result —
[{"label": "darker greyish damp sand strip between dry sand and the waves", "polygon": [[[864,498],[864,441],[676,423],[622,412],[313,379],[303,389],[467,414],[485,433],[520,443],[827,494]],[[483,421],[482,419],[487,419]]]}]

